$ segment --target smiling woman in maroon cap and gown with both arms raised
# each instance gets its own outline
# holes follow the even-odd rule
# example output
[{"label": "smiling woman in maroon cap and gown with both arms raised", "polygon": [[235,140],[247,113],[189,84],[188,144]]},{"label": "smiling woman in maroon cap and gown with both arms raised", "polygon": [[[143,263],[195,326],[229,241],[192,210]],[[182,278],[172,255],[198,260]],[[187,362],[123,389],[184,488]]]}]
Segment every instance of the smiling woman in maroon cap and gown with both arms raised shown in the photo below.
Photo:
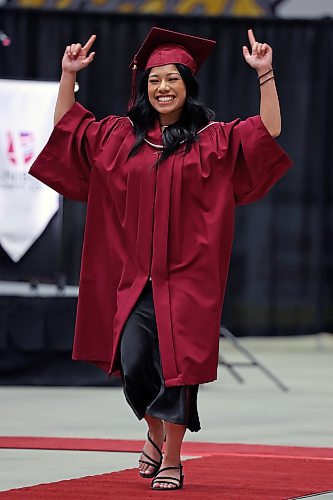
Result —
[{"label": "smiling woman in maroon cap and gown with both arms raised", "polygon": [[153,28],[133,60],[144,73],[128,116],[96,121],[74,101],[94,40],[66,48],[55,128],[30,173],[88,202],[73,358],[121,375],[148,425],[140,476],[179,489],[185,431],[200,429],[199,384],[217,376],[235,206],[291,165],[273,139],[272,49],[249,31],[260,115],[214,122],[195,74],[215,42]]}]

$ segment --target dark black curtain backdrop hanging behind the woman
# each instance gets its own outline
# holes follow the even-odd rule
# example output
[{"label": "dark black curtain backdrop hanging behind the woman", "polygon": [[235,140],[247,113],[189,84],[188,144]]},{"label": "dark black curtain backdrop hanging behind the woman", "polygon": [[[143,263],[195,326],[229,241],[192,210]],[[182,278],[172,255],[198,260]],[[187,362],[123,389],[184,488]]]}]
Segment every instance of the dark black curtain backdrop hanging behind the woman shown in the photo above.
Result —
[{"label": "dark black curtain backdrop hanging behind the woman", "polygon": [[[243,60],[252,27],[274,50],[283,130],[278,142],[294,161],[270,194],[237,209],[223,322],[238,335],[333,330],[332,127],[333,21],[128,16],[3,8],[0,77],[58,80],[64,48],[96,33],[94,63],[78,76],[78,100],[96,117],[126,113],[128,65],[152,26],[208,37],[217,47],[199,82],[201,98],[229,121],[258,114],[256,73]],[[1,111],[0,111],[1,112]],[[0,278],[78,282],[85,206],[65,200],[62,249],[47,255],[57,223],[16,265],[0,250]],[[52,247],[53,248],[53,247]],[[43,260],[44,259],[44,260]],[[57,274],[58,273],[58,274]]]}]

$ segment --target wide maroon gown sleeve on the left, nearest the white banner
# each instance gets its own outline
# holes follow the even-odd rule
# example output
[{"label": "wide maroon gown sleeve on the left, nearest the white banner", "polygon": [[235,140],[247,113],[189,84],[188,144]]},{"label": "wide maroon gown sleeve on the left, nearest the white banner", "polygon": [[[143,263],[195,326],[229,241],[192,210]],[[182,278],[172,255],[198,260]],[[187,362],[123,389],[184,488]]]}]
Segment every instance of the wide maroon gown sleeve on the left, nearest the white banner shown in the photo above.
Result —
[{"label": "wide maroon gown sleeve on the left, nearest the white banner", "polygon": [[117,120],[108,116],[96,121],[90,111],[74,103],[55,125],[29,174],[66,198],[86,201],[91,167]]}]

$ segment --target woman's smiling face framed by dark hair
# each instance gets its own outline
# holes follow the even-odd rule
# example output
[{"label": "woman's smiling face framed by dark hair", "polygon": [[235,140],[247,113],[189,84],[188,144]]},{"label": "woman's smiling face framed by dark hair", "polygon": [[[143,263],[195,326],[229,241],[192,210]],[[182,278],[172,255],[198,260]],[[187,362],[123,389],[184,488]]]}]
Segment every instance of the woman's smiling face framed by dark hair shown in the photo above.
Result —
[{"label": "woman's smiling face framed by dark hair", "polygon": [[161,125],[179,120],[186,99],[186,87],[177,66],[166,64],[150,70],[148,98],[159,113]]}]

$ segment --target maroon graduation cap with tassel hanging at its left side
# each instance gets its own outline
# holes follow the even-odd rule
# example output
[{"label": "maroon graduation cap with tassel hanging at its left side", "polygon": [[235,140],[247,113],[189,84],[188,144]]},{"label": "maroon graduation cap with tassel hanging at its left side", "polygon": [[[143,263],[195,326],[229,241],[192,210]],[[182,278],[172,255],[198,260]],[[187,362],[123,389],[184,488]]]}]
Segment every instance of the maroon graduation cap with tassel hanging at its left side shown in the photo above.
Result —
[{"label": "maroon graduation cap with tassel hanging at its left side", "polygon": [[136,99],[137,70],[145,71],[155,66],[180,63],[187,66],[195,74],[215,44],[214,40],[162,28],[152,28],[130,64],[132,95],[129,108],[134,105]]}]

